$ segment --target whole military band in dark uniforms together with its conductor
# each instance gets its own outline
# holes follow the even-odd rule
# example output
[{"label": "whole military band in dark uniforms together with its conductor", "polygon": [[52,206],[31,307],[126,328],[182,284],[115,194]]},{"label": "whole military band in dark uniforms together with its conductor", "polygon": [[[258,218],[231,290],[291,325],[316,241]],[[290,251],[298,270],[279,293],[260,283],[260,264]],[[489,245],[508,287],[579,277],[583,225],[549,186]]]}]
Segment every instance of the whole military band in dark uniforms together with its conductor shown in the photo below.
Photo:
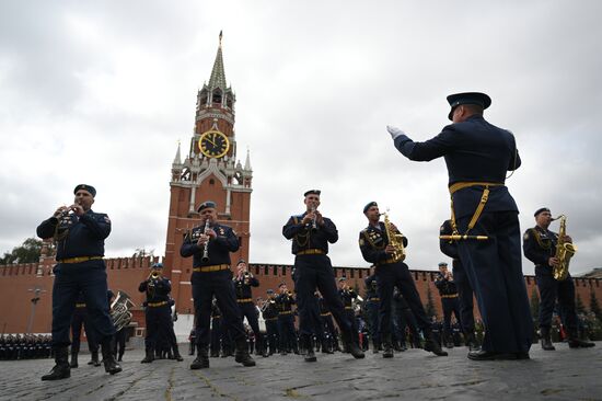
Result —
[{"label": "whole military band in dark uniforms together with its conductor", "polygon": [[[452,208],[451,219],[440,229],[440,248],[453,259],[453,270],[450,272],[441,263],[436,280],[442,299],[442,328],[427,316],[404,262],[408,238],[386,213],[380,211],[377,202],[363,207],[368,226],[358,240],[363,259],[372,264],[366,279],[366,299],[345,278],[339,279],[337,288],[328,248],[337,242],[338,230],[319,210],[321,191],[311,190],[303,195],[303,213],[290,216],[282,227],[282,236],[291,241],[294,254],[294,288],[281,283],[277,291],[269,289],[266,299],[256,305],[252,288],[259,285],[258,278],[248,272],[244,260],[232,270],[230,253],[239,250],[239,239],[232,228],[218,221],[218,205],[206,200],[198,207],[199,226],[186,233],[180,250],[183,257],[193,257],[195,326],[190,355],[196,357],[190,369],[209,368],[209,357],[219,355],[233,355],[236,363],[255,366],[253,350],[264,357],[302,354],[308,363],[317,359],[316,351],[343,351],[359,359],[364,357],[369,342],[373,353],[382,351],[384,358],[408,345],[447,356],[441,345],[452,346],[458,332],[462,332],[467,356],[473,360],[529,358],[534,330],[521,266],[518,207],[505,185],[507,171],[521,164],[514,137],[483,118],[483,111],[491,103],[486,94],[458,93],[448,101],[453,124],[428,141],[415,142],[401,129],[387,127],[395,148],[408,159],[429,161],[444,157],[448,167]],[[74,194],[73,205],[59,207],[37,229],[40,238],[54,238],[57,243],[51,342],[56,365],[43,380],[68,378],[71,368],[77,367],[79,334],[73,335],[71,343],[69,330],[81,305],[88,316],[80,320],[93,329],[92,337],[100,345],[105,370],[112,375],[121,370],[113,339],[118,331],[115,325],[120,329],[128,319],[129,297],[118,296],[119,301],[113,305],[118,312],[109,311],[103,255],[111,220],[105,214],[92,211],[94,187],[78,185]],[[554,348],[549,326],[556,299],[564,310],[568,345],[593,346],[577,333],[575,286],[568,274],[577,249],[566,234],[566,218],[558,234],[548,230],[552,218],[547,208],[537,210],[535,220],[535,228],[523,236],[523,249],[535,264],[542,297],[542,346]],[[141,360],[144,364],[164,352],[183,359],[173,330],[171,283],[162,276],[162,267],[154,264],[139,286],[147,296],[146,356]],[[473,296],[483,322],[475,323]],[[259,330],[259,313],[265,334]],[[79,333],[81,323],[76,325],[73,332]],[[479,325],[483,335],[476,335]],[[100,364],[99,345],[95,354],[94,344],[90,345],[94,364]],[[121,356],[119,353],[117,358]]]}]

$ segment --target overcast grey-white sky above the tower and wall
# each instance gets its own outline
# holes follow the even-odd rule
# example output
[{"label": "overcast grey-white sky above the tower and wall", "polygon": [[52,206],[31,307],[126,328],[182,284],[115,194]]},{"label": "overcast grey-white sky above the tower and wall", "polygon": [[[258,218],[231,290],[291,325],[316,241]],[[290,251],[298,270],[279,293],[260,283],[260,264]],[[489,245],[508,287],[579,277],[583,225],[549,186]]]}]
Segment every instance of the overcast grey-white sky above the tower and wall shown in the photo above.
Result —
[{"label": "overcast grey-white sky above the tower and wall", "polygon": [[0,252],[89,183],[113,221],[108,256],[163,255],[171,163],[223,30],[238,158],[248,147],[254,173],[251,262],[292,263],[281,228],[316,187],[339,229],[334,265],[368,266],[357,240],[377,200],[409,267],[436,270],[444,162],[408,161],[385,126],[429,139],[448,94],[483,91],[486,118],[517,137],[521,229],[541,206],[566,214],[571,272],[601,266],[600,15],[595,0],[2,1]]}]

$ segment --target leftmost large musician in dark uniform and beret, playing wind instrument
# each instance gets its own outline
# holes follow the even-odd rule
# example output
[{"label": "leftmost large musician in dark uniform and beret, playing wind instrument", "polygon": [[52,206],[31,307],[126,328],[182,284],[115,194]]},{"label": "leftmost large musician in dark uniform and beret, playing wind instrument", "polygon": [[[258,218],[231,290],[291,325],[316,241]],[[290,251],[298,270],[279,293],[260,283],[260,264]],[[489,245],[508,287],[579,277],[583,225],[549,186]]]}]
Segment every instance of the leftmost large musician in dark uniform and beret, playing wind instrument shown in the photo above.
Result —
[{"label": "leftmost large musician in dark uniform and beret, playing wind instrument", "polygon": [[91,185],[76,186],[71,206],[60,206],[53,217],[37,227],[42,239],[54,238],[57,264],[53,285],[53,348],[55,367],[42,380],[58,380],[71,376],[67,348],[69,330],[78,296],[83,293],[90,321],[101,344],[106,373],[121,371],[112,352],[115,326],[106,301],[106,266],[103,261],[104,240],[111,233],[111,220],[92,211],[96,190]]}]

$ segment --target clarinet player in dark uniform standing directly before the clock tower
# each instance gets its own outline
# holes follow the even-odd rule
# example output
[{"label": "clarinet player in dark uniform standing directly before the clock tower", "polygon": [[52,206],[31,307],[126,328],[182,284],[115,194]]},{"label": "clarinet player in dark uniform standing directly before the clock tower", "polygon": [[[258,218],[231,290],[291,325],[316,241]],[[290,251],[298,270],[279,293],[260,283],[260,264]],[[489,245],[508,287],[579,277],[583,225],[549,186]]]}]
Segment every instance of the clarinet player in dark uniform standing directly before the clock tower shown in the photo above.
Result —
[{"label": "clarinet player in dark uniform standing directly before the clock tower", "polygon": [[201,226],[195,227],[184,239],[180,249],[183,257],[194,256],[193,298],[197,317],[197,357],[190,369],[209,367],[208,348],[210,344],[211,300],[213,296],[223,313],[222,322],[235,341],[235,360],[244,366],[255,366],[255,360],[248,354],[246,332],[244,330],[236,296],[232,286],[230,270],[230,252],[240,248],[239,238],[234,231],[218,222],[217,205],[207,200],[200,204]]}]

